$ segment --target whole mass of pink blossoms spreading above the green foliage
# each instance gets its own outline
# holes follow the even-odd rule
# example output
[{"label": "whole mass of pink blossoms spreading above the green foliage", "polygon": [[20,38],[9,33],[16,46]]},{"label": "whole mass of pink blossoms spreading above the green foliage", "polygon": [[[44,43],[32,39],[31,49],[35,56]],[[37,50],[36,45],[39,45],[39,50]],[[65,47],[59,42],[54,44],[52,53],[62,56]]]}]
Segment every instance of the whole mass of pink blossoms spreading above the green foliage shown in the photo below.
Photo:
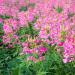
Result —
[{"label": "whole mass of pink blossoms spreading above the green foliage", "polygon": [[[23,53],[36,53],[41,56],[47,49],[42,44],[38,45],[38,39],[30,43],[30,40],[21,43],[19,36],[16,35],[20,27],[27,27],[28,23],[38,16],[33,25],[34,29],[39,31],[38,37],[42,39],[42,42],[62,46],[64,63],[73,61],[75,55],[74,5],[75,0],[0,0],[0,22],[3,23],[4,30],[3,42],[11,43],[12,38],[16,38],[23,46]],[[4,15],[9,18],[2,18]],[[34,58],[31,57],[31,59]]]}]

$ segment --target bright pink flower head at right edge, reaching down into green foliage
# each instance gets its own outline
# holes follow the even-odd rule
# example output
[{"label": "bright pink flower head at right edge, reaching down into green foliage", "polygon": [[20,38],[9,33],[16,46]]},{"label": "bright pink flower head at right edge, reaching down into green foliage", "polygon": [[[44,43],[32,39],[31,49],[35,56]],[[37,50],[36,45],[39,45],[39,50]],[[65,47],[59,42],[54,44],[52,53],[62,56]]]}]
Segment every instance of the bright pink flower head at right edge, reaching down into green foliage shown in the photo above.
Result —
[{"label": "bright pink flower head at right edge, reaching down into green foliage", "polygon": [[[73,56],[75,55],[75,39],[72,37],[66,38],[64,44],[63,44],[63,48],[64,48],[64,58],[65,60],[71,61],[71,57],[73,58]],[[72,60],[73,61],[73,60]]]}]

